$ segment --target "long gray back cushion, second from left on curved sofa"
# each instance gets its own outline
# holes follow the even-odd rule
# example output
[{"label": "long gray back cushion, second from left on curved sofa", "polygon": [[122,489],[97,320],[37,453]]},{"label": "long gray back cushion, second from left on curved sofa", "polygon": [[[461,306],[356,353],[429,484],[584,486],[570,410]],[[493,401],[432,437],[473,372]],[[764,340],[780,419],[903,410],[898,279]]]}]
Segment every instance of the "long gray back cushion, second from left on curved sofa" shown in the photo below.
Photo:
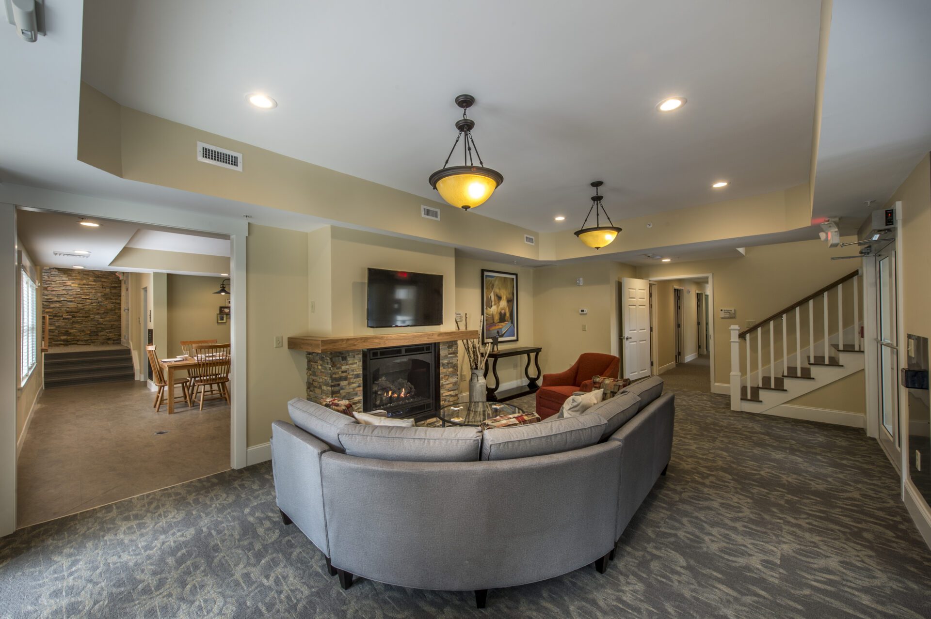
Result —
[{"label": "long gray back cushion, second from left on curved sofa", "polygon": [[344,426],[339,441],[348,455],[399,462],[474,462],[479,459],[479,428],[402,428]]}]

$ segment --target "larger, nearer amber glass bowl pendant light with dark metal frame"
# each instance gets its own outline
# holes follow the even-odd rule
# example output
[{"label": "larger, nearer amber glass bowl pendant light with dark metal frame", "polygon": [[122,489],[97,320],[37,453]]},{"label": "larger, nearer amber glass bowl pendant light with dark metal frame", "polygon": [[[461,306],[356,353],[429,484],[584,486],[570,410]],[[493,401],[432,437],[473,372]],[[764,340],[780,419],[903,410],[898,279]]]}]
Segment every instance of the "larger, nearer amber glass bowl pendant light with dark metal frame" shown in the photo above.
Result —
[{"label": "larger, nearer amber glass bowl pendant light with dark metal frame", "polygon": [[[450,154],[447,155],[443,167],[430,175],[430,187],[439,191],[439,195],[453,206],[458,206],[463,210],[474,208],[483,204],[492,197],[494,190],[505,181],[500,172],[485,167],[479,155],[479,149],[475,145],[475,139],[472,138],[472,129],[475,127],[475,121],[466,118],[466,110],[475,103],[475,97],[472,95],[459,95],[456,97],[456,105],[463,109],[463,117],[456,121],[456,128],[459,129],[459,135],[452,144]],[[463,165],[451,165],[450,158],[456,150],[459,140],[466,134],[463,140]],[[472,151],[475,151],[476,158],[479,159],[479,165],[475,165],[472,160]]]}]

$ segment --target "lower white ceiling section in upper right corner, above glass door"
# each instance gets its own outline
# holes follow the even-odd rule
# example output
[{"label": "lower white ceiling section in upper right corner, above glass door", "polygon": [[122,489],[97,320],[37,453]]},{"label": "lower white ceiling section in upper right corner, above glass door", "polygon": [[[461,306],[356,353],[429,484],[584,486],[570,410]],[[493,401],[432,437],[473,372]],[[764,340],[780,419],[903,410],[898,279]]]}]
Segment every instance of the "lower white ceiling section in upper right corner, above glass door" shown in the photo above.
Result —
[{"label": "lower white ceiling section in upper right corner, above glass door", "polygon": [[856,230],[931,151],[929,32],[928,0],[834,0],[816,217],[851,217]]}]

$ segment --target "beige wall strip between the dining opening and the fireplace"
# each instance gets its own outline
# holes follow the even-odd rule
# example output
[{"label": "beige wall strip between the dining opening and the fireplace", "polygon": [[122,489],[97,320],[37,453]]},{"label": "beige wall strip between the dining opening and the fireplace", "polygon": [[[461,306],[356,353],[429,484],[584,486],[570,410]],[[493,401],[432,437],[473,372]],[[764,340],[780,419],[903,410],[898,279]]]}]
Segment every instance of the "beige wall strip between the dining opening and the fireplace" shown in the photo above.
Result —
[{"label": "beige wall strip between the dining opening and the fireplace", "polygon": [[[289,400],[306,397],[304,352],[286,342],[307,331],[307,233],[250,224],[246,249],[246,442],[253,446],[268,441],[273,421],[289,419]],[[232,290],[235,295],[236,282]],[[275,336],[285,339],[280,349]]]}]

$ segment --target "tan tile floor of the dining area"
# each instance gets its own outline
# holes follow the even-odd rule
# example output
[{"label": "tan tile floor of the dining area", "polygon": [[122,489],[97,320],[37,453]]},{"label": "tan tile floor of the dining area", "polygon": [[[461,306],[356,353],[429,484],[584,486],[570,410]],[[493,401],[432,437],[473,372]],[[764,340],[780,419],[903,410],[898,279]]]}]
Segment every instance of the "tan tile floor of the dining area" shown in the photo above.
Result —
[{"label": "tan tile floor of the dining area", "polygon": [[226,402],[170,416],[153,402],[135,381],[43,392],[18,460],[17,527],[230,468]]}]

